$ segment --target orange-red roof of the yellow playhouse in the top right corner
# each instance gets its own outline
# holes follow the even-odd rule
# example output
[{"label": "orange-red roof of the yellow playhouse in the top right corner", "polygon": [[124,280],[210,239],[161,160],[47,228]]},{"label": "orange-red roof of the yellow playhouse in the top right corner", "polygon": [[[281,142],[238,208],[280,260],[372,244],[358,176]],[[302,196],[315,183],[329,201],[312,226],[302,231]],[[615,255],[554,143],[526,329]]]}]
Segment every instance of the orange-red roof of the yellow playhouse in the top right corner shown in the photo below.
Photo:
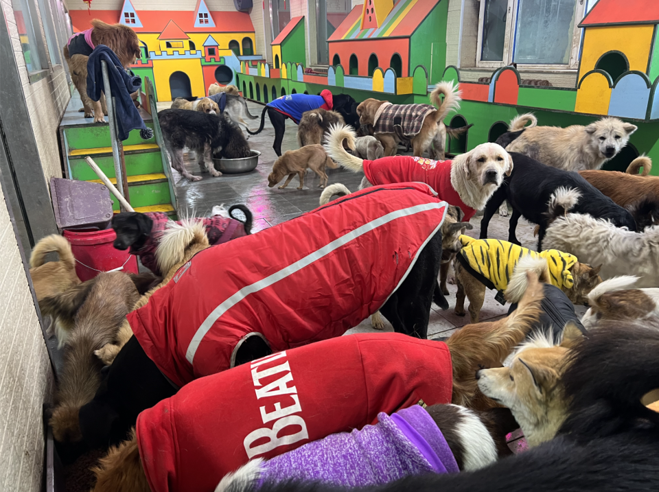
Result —
[{"label": "orange-red roof of the yellow playhouse in the top right corner", "polygon": [[657,23],[658,0],[599,0],[579,27]]}]

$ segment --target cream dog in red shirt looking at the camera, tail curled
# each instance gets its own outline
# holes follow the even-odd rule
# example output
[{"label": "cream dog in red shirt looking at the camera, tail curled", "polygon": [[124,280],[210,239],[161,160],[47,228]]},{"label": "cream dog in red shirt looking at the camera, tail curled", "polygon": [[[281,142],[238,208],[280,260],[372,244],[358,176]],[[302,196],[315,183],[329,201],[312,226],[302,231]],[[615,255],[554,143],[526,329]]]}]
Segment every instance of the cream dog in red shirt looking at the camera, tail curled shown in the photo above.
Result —
[{"label": "cream dog in red shirt looking at the camera, tail curled", "polygon": [[[442,200],[460,207],[469,222],[476,210],[485,207],[490,196],[513,170],[513,160],[496,143],[481,143],[453,161],[431,161],[424,157],[393,156],[376,161],[360,159],[343,148],[354,150],[356,134],[351,128],[333,126],[325,142],[327,154],[342,167],[364,172],[360,189],[369,185],[420,181],[435,189]],[[385,152],[386,153],[386,152]]]}]

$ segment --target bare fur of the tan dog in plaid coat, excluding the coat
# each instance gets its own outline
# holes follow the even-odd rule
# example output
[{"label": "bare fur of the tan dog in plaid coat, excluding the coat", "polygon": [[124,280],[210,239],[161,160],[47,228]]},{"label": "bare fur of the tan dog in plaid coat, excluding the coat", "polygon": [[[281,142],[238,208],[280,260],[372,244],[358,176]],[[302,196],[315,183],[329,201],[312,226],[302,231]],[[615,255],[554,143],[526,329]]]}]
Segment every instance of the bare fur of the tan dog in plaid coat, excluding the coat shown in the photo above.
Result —
[{"label": "bare fur of the tan dog in plaid coat, excluding the coat", "polygon": [[[441,95],[444,96],[443,102]],[[430,148],[432,143],[435,144],[435,155],[438,159],[443,159],[444,147],[446,145],[446,126],[443,119],[451,111],[460,108],[461,93],[458,86],[453,82],[439,82],[435,89],[430,93],[430,102],[437,107],[436,110],[428,113],[421,125],[421,130],[410,138],[412,143],[413,155],[423,156],[424,152]],[[395,132],[382,133],[377,131],[377,121],[380,118],[384,108],[391,103],[369,98],[357,106],[357,115],[361,125],[371,125],[374,128],[375,137],[384,145],[384,156],[393,156],[396,154],[398,143],[401,139]]]}]

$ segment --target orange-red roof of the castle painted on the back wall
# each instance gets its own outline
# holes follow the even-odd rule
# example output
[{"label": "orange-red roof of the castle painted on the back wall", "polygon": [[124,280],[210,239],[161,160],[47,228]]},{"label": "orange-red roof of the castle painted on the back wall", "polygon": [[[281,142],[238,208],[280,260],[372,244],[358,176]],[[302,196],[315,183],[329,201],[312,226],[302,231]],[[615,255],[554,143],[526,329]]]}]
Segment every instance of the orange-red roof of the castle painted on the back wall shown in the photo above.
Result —
[{"label": "orange-red roof of the castle painted on the back wall", "polygon": [[[135,32],[161,33],[172,19],[183,32],[254,32],[249,14],[244,12],[211,11],[216,27],[194,27],[192,10],[137,10],[137,16],[143,27],[133,27]],[[91,15],[90,15],[91,13]],[[73,31],[80,32],[91,27],[92,19],[100,19],[108,24],[119,22],[121,10],[70,10]]]}]

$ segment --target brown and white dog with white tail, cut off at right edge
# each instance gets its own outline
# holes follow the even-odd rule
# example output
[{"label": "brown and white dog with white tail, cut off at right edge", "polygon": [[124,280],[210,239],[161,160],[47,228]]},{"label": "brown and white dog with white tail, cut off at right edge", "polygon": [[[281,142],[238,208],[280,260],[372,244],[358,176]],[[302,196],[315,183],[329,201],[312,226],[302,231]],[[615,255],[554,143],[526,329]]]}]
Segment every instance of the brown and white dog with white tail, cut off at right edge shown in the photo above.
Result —
[{"label": "brown and white dog with white tail, cut off at right edge", "polygon": [[637,289],[638,277],[621,275],[597,285],[588,294],[588,311],[581,319],[587,328],[600,320],[647,320],[659,318],[659,288]]}]

